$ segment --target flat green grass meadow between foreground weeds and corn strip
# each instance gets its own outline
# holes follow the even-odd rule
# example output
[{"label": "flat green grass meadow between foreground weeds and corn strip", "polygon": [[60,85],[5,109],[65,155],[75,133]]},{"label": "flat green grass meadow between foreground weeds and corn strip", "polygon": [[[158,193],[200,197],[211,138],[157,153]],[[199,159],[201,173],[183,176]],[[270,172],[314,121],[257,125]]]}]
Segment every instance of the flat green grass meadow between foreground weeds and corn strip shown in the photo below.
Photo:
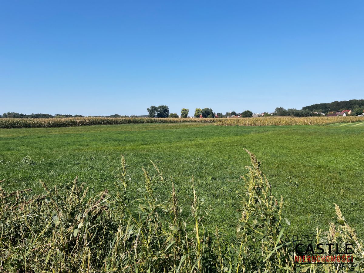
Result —
[{"label": "flat green grass meadow between foreground weeds and corn strip", "polygon": [[[335,126],[337,125],[337,126]],[[240,175],[250,165],[244,148],[256,154],[283,196],[291,234],[327,229],[337,203],[360,235],[364,233],[364,126],[215,126],[208,123],[99,125],[69,128],[0,129],[0,181],[6,190],[79,180],[97,193],[112,191],[120,154],[127,161],[132,198],[143,186],[141,167],[153,173],[153,161],[175,182],[184,211],[190,210],[191,177],[210,210],[209,229],[235,234],[240,207]],[[156,186],[167,198],[171,182]],[[233,220],[233,221],[232,221]]]}]

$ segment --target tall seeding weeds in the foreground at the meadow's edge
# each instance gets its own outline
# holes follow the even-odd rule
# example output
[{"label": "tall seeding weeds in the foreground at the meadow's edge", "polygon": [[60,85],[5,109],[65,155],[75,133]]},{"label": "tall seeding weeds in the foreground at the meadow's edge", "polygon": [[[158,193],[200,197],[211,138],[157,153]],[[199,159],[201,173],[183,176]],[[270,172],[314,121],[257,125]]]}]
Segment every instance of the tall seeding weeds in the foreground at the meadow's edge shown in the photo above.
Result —
[{"label": "tall seeding weeds in the foreground at the meadow's edge", "polygon": [[[293,262],[288,220],[282,218],[283,198],[271,194],[271,185],[250,155],[252,166],[237,183],[243,183],[236,237],[225,238],[216,227],[204,227],[204,200],[190,183],[191,206],[182,213],[178,189],[153,164],[153,174],[142,168],[145,183],[141,197],[130,200],[132,181],[122,157],[115,190],[88,195],[76,178],[65,188],[44,193],[31,189],[6,192],[0,187],[0,272],[335,272],[362,271],[361,240],[335,205],[336,221],[317,235],[329,242],[352,242],[350,265],[298,265]],[[154,185],[168,183],[170,198],[158,200]],[[130,202],[138,202],[131,209]],[[185,215],[185,216],[183,216]]]}]

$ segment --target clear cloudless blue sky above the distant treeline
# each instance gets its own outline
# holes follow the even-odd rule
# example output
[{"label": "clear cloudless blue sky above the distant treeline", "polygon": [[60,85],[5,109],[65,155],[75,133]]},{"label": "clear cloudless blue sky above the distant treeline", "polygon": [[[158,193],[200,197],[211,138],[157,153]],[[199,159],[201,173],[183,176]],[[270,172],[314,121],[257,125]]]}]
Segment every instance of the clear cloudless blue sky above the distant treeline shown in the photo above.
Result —
[{"label": "clear cloudless blue sky above the distant treeline", "polygon": [[364,96],[364,1],[0,2],[0,112],[143,115]]}]

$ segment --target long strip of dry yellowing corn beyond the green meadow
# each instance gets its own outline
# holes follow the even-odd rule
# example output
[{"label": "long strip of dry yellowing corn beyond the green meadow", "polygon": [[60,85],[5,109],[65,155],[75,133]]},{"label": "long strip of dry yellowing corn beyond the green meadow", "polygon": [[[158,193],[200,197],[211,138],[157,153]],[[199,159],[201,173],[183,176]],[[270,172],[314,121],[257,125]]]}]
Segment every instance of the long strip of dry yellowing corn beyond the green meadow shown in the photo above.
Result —
[{"label": "long strip of dry yellowing corn beyond the green meadow", "polygon": [[268,125],[324,125],[341,122],[364,121],[364,117],[302,117],[272,116],[258,118],[40,118],[18,119],[0,118],[0,128],[46,128],[46,127],[71,127],[100,124],[128,124],[128,123],[181,123],[200,122],[214,123],[222,126],[268,126]]}]

